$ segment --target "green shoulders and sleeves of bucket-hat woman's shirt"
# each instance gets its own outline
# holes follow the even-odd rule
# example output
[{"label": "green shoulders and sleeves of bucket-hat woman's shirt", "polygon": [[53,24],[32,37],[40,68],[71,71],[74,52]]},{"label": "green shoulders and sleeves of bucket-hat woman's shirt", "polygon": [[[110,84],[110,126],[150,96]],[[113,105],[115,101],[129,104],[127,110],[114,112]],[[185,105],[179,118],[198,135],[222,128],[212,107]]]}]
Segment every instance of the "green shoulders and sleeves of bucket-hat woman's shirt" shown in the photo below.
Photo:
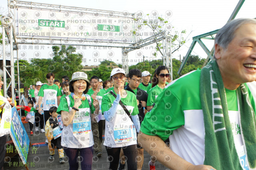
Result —
[{"label": "green shoulders and sleeves of bucket-hat woman's shirt", "polygon": [[[72,98],[71,95],[68,95],[69,99],[70,99],[70,107],[74,106],[74,99]],[[90,108],[89,102],[86,98],[86,100],[82,100],[82,104],[78,107],[78,109],[82,109],[82,108],[90,108],[91,112],[93,113],[95,111],[95,108],[93,106],[93,99],[91,97],[91,102],[92,102],[92,107]],[[61,114],[60,111],[67,111],[69,112],[69,108],[68,108],[68,101],[66,99],[62,99],[60,101],[60,105],[57,109],[57,113]]]}]

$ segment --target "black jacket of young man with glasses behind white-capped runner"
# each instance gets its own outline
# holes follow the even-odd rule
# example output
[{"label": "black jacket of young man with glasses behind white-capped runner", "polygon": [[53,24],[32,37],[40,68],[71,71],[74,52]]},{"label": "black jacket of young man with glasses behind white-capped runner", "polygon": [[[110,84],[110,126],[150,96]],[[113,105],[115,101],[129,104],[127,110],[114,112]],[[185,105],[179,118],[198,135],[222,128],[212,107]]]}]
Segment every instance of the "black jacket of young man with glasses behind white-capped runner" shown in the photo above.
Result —
[{"label": "black jacket of young man with glasses behind white-capped runner", "polygon": [[[130,88],[129,84],[126,85],[125,89],[130,91],[130,92],[132,92],[132,93],[134,93],[134,91]],[[137,98],[137,100],[139,102],[140,101],[146,101],[147,102],[147,100],[148,100],[148,94],[146,93],[146,91],[144,91],[144,90],[142,90],[142,89],[140,89],[138,87],[137,87],[137,94],[135,94],[135,95],[136,95],[136,98]],[[138,109],[139,109],[138,116],[140,118],[140,124],[141,124],[143,119],[144,119],[144,117],[145,117],[145,115],[144,115],[144,108],[142,107],[141,102],[138,105]],[[147,109],[147,108],[145,108],[145,109]]]}]

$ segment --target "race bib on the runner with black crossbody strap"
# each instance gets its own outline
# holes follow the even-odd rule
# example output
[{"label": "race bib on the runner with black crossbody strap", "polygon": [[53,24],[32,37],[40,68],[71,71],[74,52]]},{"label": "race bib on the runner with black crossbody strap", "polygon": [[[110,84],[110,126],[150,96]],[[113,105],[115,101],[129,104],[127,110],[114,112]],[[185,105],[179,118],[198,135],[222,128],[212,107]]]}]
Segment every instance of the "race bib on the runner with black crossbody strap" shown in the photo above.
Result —
[{"label": "race bib on the runner with black crossbody strap", "polygon": [[130,125],[129,128],[114,128],[114,140],[115,143],[136,140],[136,129],[134,125]]}]

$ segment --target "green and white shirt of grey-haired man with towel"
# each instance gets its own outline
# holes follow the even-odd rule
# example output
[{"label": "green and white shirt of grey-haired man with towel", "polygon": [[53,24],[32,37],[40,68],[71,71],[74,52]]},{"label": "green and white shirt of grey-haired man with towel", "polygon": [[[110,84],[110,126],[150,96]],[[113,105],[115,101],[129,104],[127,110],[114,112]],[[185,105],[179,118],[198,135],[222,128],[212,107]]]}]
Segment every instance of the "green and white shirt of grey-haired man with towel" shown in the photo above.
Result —
[{"label": "green and white shirt of grey-haired man with towel", "polygon": [[[166,86],[158,96],[153,109],[145,115],[140,128],[144,134],[156,135],[162,140],[169,138],[170,148],[194,165],[204,163],[205,149],[204,117],[199,89],[200,73],[201,70],[192,71]],[[240,134],[236,91],[226,89],[226,98],[234,143],[242,166],[246,159],[243,157],[244,144]],[[250,100],[255,111],[251,94]]]}]

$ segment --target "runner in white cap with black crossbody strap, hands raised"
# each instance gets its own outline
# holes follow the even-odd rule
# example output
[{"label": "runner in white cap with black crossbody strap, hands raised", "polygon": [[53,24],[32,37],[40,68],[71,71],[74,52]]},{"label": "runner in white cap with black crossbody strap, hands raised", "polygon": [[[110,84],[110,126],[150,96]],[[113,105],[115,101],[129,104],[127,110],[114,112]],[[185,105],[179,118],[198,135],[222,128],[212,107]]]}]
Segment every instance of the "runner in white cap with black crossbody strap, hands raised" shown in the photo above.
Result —
[{"label": "runner in white cap with black crossbody strap, hands raised", "polygon": [[140,130],[137,99],[134,93],[124,90],[124,69],[114,68],[110,81],[114,83],[114,90],[102,97],[102,112],[106,119],[104,145],[110,162],[109,169],[117,170],[122,148],[128,170],[137,170],[136,131]]}]

